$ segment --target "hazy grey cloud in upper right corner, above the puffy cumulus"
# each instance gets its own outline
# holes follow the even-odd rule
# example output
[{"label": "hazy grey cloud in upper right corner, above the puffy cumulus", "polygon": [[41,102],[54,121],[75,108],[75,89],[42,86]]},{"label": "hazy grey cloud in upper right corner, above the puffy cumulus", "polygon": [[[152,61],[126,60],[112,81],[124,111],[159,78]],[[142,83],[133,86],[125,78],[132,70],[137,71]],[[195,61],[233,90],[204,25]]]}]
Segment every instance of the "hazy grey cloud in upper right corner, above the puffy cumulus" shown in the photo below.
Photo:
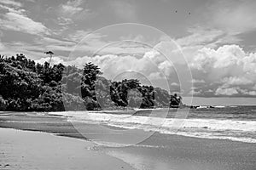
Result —
[{"label": "hazy grey cloud in upper right corner, above the puffy cumulus", "polygon": [[187,29],[189,36],[178,38],[177,43],[188,56],[203,47],[218,48],[227,44],[241,44],[244,41],[241,34],[256,29],[255,5],[253,0],[206,3],[201,11],[201,21],[190,26]]}]

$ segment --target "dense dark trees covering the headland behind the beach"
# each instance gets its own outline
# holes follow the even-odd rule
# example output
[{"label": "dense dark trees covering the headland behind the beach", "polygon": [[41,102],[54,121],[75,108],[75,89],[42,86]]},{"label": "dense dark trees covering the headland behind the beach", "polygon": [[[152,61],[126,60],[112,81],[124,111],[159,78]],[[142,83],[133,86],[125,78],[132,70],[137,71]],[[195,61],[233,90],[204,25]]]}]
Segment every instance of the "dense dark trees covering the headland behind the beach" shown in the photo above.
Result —
[{"label": "dense dark trees covering the headland behind the beach", "polygon": [[77,111],[109,108],[164,107],[166,90],[144,86],[137,79],[110,82],[97,65],[84,69],[62,64],[50,66],[0,55],[0,111]]}]

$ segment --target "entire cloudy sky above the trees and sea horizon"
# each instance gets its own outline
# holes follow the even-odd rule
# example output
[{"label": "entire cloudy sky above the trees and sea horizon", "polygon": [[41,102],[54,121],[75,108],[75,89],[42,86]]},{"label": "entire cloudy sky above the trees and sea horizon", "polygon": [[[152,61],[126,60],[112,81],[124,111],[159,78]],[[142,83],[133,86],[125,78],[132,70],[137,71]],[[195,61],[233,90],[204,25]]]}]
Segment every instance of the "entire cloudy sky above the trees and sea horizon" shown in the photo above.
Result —
[{"label": "entire cloudy sky above the trees and sea horizon", "polygon": [[254,0],[0,0],[0,54],[99,65],[108,79],[256,97]]}]

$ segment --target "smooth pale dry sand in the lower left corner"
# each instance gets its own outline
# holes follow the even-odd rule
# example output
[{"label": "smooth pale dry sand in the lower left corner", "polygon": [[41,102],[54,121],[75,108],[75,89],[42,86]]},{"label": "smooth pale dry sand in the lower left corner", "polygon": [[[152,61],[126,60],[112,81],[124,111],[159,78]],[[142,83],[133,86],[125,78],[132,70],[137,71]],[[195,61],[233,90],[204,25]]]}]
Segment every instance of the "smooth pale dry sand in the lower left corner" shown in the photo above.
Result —
[{"label": "smooth pale dry sand in the lower left corner", "polygon": [[0,136],[0,169],[132,169],[85,140],[9,128]]}]

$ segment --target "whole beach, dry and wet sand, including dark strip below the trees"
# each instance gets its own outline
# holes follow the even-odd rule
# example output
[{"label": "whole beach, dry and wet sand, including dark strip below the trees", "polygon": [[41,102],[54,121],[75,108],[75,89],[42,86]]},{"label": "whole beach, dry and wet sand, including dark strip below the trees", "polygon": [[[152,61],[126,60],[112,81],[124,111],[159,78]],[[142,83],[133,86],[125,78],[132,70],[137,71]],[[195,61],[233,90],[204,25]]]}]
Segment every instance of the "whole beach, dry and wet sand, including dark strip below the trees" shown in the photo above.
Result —
[{"label": "whole beach, dry and wet sand, including dark strip below the trees", "polygon": [[[0,127],[26,130],[1,129],[2,166],[9,164],[6,169],[20,166],[19,169],[137,170],[253,170],[256,166],[255,143],[153,133],[137,144],[108,147],[91,141],[91,132],[94,137],[102,136],[96,124],[79,122],[79,126],[84,129],[83,135],[77,125],[68,122],[67,116],[2,113]],[[86,138],[86,133],[90,138]]]}]

